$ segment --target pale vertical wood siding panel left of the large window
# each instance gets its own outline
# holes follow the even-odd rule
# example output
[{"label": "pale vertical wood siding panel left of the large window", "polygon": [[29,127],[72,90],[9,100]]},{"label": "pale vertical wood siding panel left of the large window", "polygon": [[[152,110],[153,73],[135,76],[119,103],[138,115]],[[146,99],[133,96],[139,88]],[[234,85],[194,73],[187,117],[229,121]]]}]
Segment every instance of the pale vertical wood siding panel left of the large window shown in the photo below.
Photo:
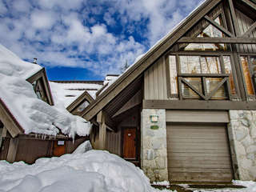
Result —
[{"label": "pale vertical wood siding panel left of the large window", "polygon": [[166,80],[166,63],[162,57],[144,73],[144,98],[149,100],[168,99]]}]

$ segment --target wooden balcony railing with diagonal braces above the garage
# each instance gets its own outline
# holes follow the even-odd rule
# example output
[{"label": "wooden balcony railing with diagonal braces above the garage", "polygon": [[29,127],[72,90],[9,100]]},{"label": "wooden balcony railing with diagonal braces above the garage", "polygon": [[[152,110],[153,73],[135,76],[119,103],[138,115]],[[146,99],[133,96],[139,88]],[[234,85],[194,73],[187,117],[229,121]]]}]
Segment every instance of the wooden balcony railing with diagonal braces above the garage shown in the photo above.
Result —
[{"label": "wooden balcony railing with diagonal braces above the garage", "polygon": [[178,74],[179,98],[230,99],[230,74]]}]

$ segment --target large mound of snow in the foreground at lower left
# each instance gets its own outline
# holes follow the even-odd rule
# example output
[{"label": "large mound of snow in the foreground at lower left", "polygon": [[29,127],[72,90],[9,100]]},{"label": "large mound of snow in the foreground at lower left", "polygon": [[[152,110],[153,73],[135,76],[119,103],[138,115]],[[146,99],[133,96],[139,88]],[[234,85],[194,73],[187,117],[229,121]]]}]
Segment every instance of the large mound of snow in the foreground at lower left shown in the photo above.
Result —
[{"label": "large mound of snow in the foreground at lower left", "polygon": [[33,165],[0,162],[1,192],[150,192],[142,170],[107,151],[39,158]]}]

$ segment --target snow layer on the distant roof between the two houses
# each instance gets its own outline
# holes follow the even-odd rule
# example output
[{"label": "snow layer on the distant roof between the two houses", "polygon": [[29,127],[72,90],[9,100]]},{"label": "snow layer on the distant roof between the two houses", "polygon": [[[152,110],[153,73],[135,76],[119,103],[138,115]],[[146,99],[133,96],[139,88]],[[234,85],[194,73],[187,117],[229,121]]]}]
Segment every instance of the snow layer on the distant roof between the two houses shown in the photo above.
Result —
[{"label": "snow layer on the distant roof between the two houses", "polygon": [[70,106],[85,90],[92,98],[96,98],[96,93],[102,85],[97,82],[50,82],[50,90],[54,101],[59,100],[64,106]]}]

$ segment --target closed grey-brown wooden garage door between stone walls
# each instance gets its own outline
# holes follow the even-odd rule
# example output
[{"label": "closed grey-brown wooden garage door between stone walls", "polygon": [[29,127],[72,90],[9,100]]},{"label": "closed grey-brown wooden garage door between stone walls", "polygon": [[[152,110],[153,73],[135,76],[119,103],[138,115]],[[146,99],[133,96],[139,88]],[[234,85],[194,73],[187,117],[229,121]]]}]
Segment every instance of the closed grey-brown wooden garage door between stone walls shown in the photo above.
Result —
[{"label": "closed grey-brown wooden garage door between stone walls", "polygon": [[166,125],[170,181],[230,182],[225,126]]}]

